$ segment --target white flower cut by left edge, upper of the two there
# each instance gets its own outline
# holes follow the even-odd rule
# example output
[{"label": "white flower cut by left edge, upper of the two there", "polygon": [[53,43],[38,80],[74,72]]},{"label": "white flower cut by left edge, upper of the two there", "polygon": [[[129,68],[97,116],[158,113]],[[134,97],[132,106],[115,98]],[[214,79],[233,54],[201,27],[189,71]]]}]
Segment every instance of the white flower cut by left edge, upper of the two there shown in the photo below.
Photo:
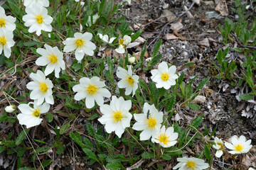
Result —
[{"label": "white flower cut by left edge, upper of the two there", "polygon": [[0,29],[4,31],[14,31],[16,18],[6,16],[4,8],[0,6]]}]

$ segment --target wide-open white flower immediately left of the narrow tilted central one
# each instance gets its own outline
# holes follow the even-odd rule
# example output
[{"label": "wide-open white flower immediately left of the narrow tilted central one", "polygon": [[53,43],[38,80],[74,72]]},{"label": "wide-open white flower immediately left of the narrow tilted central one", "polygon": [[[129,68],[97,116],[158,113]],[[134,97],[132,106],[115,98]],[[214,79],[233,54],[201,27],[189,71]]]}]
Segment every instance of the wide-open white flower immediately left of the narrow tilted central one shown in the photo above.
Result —
[{"label": "wide-open white flower immediately left of the narrow tilted central one", "polygon": [[100,81],[99,77],[92,77],[91,79],[82,77],[79,82],[80,84],[73,86],[73,91],[78,92],[75,94],[75,100],[80,101],[85,98],[87,108],[95,106],[95,101],[99,106],[102,106],[104,104],[103,97],[110,98],[111,96],[110,91],[103,88],[105,82]]}]

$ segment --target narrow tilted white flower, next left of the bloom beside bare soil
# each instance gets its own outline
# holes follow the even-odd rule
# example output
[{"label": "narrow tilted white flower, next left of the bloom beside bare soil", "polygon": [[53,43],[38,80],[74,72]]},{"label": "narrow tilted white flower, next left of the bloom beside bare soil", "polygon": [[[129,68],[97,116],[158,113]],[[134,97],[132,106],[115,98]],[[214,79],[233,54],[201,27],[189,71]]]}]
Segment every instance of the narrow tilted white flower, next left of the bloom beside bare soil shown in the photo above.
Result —
[{"label": "narrow tilted white flower, next left of the bloom beside bare soil", "polygon": [[125,95],[132,93],[132,96],[134,96],[135,91],[138,89],[139,77],[132,75],[132,66],[128,67],[128,72],[122,67],[117,67],[117,77],[121,79],[117,86],[121,89],[125,88]]}]

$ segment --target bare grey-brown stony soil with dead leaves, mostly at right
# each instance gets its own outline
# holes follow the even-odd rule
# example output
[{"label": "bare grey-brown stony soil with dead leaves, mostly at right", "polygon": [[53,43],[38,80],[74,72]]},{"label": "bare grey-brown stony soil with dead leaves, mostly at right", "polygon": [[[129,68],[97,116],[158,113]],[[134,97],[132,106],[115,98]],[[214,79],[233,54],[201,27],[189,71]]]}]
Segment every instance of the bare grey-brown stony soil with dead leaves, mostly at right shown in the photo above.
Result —
[{"label": "bare grey-brown stony soil with dead leaves, mostly at right", "polygon": [[[205,96],[206,100],[198,101],[201,110],[191,111],[188,108],[184,108],[181,111],[181,114],[184,116],[177,119],[178,123],[187,123],[203,113],[203,128],[200,130],[203,130],[205,126],[210,132],[214,128],[217,128],[215,136],[221,137],[224,140],[228,140],[233,135],[245,135],[247,139],[252,140],[252,145],[256,145],[255,104],[252,106],[247,101],[238,101],[237,96],[242,88],[231,86],[228,80],[214,78],[217,71],[214,69],[212,61],[216,62],[215,55],[220,48],[225,46],[221,42],[218,24],[223,25],[225,17],[221,16],[215,10],[215,1],[208,2],[210,4],[201,1],[201,5],[199,6],[198,4],[193,4],[193,1],[188,0],[132,0],[131,5],[124,6],[124,14],[127,15],[127,20],[134,31],[140,28],[144,29],[142,38],[148,40],[146,44],[149,52],[148,57],[151,57],[151,52],[157,40],[163,39],[159,50],[159,53],[163,55],[162,61],[166,61],[170,65],[175,64],[178,73],[181,74],[181,72],[184,72],[186,83],[198,75],[196,81],[193,83],[193,87],[196,87],[203,78],[210,77],[210,81],[200,94],[201,96]],[[233,19],[235,18],[235,13],[231,8],[234,7],[234,1],[227,1],[227,3],[228,17]],[[176,30],[176,33],[171,29],[170,24],[166,26],[169,18],[160,18],[166,11],[178,17],[178,15],[185,11],[184,5],[189,8],[192,4],[193,6],[189,12],[193,18],[188,18],[186,13],[180,16],[178,21],[183,24],[183,27],[180,30]],[[214,14],[217,15],[214,16]],[[166,36],[169,34],[176,35],[176,39],[166,40]],[[206,38],[208,41],[203,41]],[[230,47],[232,46],[230,44]],[[141,48],[134,47],[129,52],[131,54],[139,52]],[[239,54],[234,50],[230,50],[230,55],[238,56]],[[186,63],[188,62],[194,62],[195,64],[186,67]],[[16,78],[19,79],[19,77]],[[25,89],[25,83],[27,82],[22,82],[21,89]],[[246,89],[246,85],[244,86]],[[242,116],[242,111],[245,111],[247,107],[251,111],[250,118]],[[190,114],[188,115],[187,113]],[[83,124],[83,122],[80,122],[78,119],[78,124]],[[1,128],[6,128],[6,126],[8,125],[0,123]],[[7,129],[11,132],[10,128],[17,128],[17,125],[9,125],[9,129]],[[41,135],[43,136],[43,132]],[[81,154],[78,154],[78,157],[80,157],[78,159],[82,160]],[[67,159],[66,162],[72,162],[72,159],[68,158],[68,156],[62,159]],[[1,160],[3,160],[3,156],[0,154],[0,163]],[[215,162],[213,164],[214,169],[230,167],[230,165],[218,164],[222,162],[222,159],[214,158],[213,161]],[[1,166],[0,164],[0,169]],[[70,169],[72,167],[70,166]]]}]

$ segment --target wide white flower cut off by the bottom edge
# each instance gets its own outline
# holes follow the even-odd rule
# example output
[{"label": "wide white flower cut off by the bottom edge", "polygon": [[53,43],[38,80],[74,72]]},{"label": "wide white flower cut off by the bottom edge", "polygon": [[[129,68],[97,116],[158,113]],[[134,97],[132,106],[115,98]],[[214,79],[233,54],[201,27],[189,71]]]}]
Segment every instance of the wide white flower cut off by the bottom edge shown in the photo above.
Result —
[{"label": "wide white flower cut off by the bottom edge", "polygon": [[201,169],[207,169],[208,164],[204,162],[203,159],[198,159],[194,157],[190,158],[177,158],[177,161],[179,162],[174,166],[173,169],[179,169],[179,170],[201,170]]}]

